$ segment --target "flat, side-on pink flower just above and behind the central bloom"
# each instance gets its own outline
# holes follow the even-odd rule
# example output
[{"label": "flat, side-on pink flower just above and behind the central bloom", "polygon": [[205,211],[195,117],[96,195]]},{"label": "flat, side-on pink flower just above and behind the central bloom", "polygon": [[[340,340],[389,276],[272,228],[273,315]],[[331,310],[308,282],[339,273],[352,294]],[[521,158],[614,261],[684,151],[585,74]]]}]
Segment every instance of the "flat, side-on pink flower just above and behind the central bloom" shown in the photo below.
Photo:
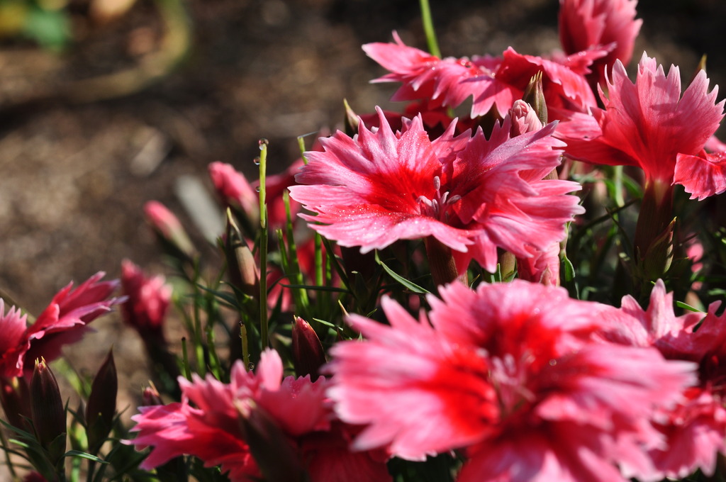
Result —
[{"label": "flat, side-on pink flower just above and behind the central bloom", "polygon": [[363,49],[391,72],[377,82],[403,83],[393,94],[394,101],[425,99],[427,110],[436,110],[457,107],[473,97],[472,118],[488,113],[492,107],[503,118],[514,101],[521,99],[530,78],[541,71],[548,106],[584,112],[595,105],[592,90],[582,75],[568,68],[568,63],[577,65],[574,60],[552,62],[518,54],[511,48],[502,57],[439,59],[404,45],[395,32],[393,40],[395,44],[366,44]]}]

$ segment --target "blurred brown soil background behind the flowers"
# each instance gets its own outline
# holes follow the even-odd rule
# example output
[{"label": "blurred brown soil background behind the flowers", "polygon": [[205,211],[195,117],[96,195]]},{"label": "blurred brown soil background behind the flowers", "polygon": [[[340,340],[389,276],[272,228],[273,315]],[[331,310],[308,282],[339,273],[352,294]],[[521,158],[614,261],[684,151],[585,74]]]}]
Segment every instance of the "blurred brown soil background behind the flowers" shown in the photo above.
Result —
[{"label": "blurred brown soil background behind the flowers", "polygon": [[[557,0],[431,7],[444,55],[559,45]],[[635,61],[647,50],[688,81],[707,54],[711,85],[725,83],[726,2],[638,10]],[[163,272],[148,200],[204,245],[180,179],[211,192],[215,160],[253,178],[261,137],[269,171],[282,171],[299,157],[296,136],[341,125],[343,98],[359,113],[395,109],[396,86],[369,83],[383,69],[360,48],[394,29],[425,49],[415,0],[0,0],[1,292],[38,314],[70,280],[118,277],[123,258]],[[94,325],[71,358],[94,371],[113,343],[122,386],[139,393],[135,333],[113,316]]]}]

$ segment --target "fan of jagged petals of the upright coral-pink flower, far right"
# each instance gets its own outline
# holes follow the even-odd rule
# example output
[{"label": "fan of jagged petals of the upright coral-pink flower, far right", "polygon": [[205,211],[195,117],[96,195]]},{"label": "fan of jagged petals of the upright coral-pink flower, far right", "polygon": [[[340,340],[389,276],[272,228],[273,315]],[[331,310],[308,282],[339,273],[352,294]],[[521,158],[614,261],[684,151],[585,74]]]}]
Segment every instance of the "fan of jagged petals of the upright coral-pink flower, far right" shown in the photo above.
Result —
[{"label": "fan of jagged petals of the upright coral-pink flower, far right", "polygon": [[[662,66],[645,53],[632,83],[617,61],[607,83],[608,96],[600,91],[605,110],[593,107],[592,116],[576,115],[558,126],[558,136],[567,142],[571,158],[637,166],[648,181],[666,186],[676,182],[699,197],[715,194],[713,188],[720,184],[709,176],[717,175],[717,163],[678,167],[684,156],[701,152],[723,118],[724,101],[715,104],[717,88],[708,92],[708,86],[706,73],[701,71],[681,96],[678,68],[672,66],[665,75]],[[676,172],[679,175],[674,180]]]}]

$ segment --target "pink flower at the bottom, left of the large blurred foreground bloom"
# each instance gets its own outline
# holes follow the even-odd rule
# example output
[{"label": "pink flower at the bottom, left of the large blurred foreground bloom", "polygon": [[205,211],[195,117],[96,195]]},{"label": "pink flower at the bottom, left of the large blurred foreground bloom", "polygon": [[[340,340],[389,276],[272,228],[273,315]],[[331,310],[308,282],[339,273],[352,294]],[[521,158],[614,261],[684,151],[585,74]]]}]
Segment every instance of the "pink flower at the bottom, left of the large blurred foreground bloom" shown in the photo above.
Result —
[{"label": "pink flower at the bottom, left of the large blurred foreground bloom", "polygon": [[[209,375],[194,375],[191,382],[179,378],[181,404],[140,407],[134,440],[137,449],[152,446],[142,468],[151,469],[182,454],[199,457],[205,466],[221,465],[232,482],[261,475],[267,461],[256,461],[242,430],[242,420],[261,411],[282,433],[282,443],[295,450],[292,465],[306,467],[313,482],[390,481],[385,459],[372,454],[351,454],[347,449],[353,428],[336,420],[325,398],[327,380],[320,377],[282,377],[282,361],[276,351],[266,350],[256,374],[242,362],[232,367],[229,384]],[[282,449],[282,447],[279,447]],[[280,457],[280,450],[274,457]],[[271,457],[273,454],[270,454]],[[290,461],[277,459],[273,463]]]}]

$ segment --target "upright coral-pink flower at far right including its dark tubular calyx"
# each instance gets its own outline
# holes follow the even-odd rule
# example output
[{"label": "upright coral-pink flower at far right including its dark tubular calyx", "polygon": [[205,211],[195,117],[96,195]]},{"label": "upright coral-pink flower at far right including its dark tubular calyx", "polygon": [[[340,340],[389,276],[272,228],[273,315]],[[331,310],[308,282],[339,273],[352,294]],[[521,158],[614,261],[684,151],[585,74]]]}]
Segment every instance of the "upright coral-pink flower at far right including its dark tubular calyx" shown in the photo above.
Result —
[{"label": "upright coral-pink flower at far right including its dark tubular calyx", "polygon": [[600,90],[604,110],[593,107],[592,115],[574,114],[558,126],[568,157],[643,169],[645,192],[633,256],[640,278],[655,280],[667,269],[672,184],[682,184],[699,198],[716,194],[726,184],[717,158],[693,158],[723,118],[724,101],[716,104],[717,88],[709,92],[708,87],[701,70],[681,95],[678,68],[672,66],[665,75],[644,53],[635,83],[616,61],[607,82],[608,96]]}]

